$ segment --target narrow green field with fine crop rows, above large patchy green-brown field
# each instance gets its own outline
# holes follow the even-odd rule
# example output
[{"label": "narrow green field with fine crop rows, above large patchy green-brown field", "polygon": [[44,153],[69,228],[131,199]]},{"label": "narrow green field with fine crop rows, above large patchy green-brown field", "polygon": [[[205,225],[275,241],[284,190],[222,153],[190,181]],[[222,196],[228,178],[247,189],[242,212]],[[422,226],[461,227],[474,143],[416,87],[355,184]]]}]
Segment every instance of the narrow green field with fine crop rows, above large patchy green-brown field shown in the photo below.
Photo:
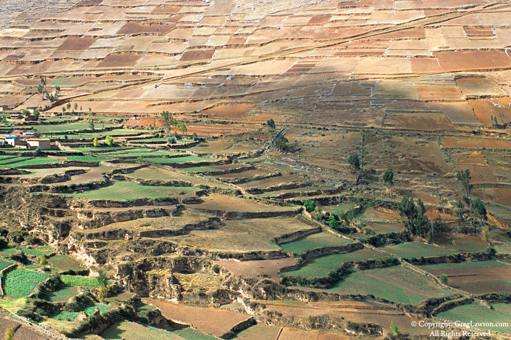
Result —
[{"label": "narrow green field with fine crop rows, above large patchy green-brown field", "polygon": [[339,268],[345,262],[363,261],[368,258],[385,256],[370,249],[360,249],[347,254],[333,254],[314,258],[304,267],[282,273],[283,276],[323,277]]}]

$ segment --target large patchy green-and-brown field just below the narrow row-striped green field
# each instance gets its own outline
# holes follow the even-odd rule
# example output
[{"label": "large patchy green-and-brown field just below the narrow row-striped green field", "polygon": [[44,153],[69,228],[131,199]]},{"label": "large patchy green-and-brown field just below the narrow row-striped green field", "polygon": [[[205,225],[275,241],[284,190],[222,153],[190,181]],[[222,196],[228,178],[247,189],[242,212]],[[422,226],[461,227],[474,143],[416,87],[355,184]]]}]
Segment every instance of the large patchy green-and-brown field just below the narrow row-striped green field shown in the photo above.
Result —
[{"label": "large patchy green-and-brown field just below the narrow row-striped green field", "polygon": [[401,266],[356,271],[328,291],[337,294],[371,294],[400,303],[417,303],[453,293],[440,289],[424,275]]}]

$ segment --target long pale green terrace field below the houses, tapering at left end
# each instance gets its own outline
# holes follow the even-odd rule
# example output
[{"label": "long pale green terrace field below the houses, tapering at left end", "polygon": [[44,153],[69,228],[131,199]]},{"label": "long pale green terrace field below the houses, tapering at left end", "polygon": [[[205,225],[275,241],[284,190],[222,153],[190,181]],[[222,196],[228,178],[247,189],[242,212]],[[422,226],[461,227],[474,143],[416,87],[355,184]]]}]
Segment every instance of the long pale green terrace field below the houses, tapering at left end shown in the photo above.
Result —
[{"label": "long pale green terrace field below the houses, tapering at left end", "polygon": [[108,187],[89,190],[79,194],[65,195],[73,195],[87,199],[164,198],[179,196],[183,192],[190,196],[197,190],[199,189],[194,187],[151,187],[141,186],[129,181],[119,181]]}]

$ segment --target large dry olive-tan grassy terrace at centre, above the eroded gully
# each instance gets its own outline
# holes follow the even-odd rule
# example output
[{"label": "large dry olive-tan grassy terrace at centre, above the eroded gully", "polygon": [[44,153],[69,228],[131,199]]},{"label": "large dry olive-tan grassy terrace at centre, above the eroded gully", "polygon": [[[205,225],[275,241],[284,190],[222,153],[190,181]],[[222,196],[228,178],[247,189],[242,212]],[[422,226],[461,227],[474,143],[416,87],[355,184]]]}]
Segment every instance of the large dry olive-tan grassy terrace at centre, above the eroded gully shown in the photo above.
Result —
[{"label": "large dry olive-tan grassy terrace at centre, above the eroded gully", "polygon": [[192,230],[187,235],[168,239],[209,251],[268,251],[280,249],[271,241],[273,238],[311,228],[295,218],[224,220],[213,230]]}]

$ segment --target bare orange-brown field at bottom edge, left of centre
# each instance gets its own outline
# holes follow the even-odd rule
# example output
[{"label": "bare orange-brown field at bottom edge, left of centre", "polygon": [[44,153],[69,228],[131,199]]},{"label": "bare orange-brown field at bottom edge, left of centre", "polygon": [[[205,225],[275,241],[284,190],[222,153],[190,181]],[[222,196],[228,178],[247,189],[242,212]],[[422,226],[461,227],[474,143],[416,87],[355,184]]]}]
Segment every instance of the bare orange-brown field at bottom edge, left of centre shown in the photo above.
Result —
[{"label": "bare orange-brown field at bottom edge, left of centre", "polygon": [[161,314],[172,321],[191,325],[205,333],[220,336],[227,333],[250,315],[215,308],[201,308],[178,305],[154,299],[144,299],[146,303],[158,307]]}]

